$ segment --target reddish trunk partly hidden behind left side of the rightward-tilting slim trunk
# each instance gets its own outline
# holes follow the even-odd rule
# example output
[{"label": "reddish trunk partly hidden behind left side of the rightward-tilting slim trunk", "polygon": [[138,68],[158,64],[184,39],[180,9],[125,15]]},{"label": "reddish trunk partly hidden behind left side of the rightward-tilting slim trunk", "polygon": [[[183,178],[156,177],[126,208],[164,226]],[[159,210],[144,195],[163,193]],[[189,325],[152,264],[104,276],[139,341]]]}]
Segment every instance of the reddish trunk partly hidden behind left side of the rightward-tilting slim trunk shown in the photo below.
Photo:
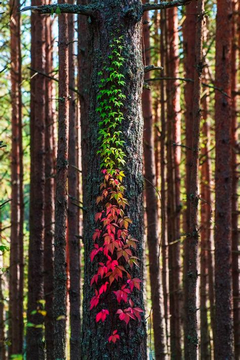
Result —
[{"label": "reddish trunk partly hidden behind left side of the rightward-tilting slim trunk", "polygon": [[[196,32],[196,0],[193,0],[186,7],[186,19],[183,23],[183,49],[184,49],[184,70],[185,76],[194,78],[194,63],[195,63],[195,32]],[[190,195],[190,171],[191,171],[191,146],[192,146],[192,109],[193,109],[193,88],[194,83],[186,83],[184,87],[185,99],[185,145],[186,148],[186,210],[183,214],[183,230],[186,234],[189,233],[189,195]],[[188,242],[185,240],[183,244],[183,329],[184,329],[184,358],[187,359],[187,264],[188,264]]]}]

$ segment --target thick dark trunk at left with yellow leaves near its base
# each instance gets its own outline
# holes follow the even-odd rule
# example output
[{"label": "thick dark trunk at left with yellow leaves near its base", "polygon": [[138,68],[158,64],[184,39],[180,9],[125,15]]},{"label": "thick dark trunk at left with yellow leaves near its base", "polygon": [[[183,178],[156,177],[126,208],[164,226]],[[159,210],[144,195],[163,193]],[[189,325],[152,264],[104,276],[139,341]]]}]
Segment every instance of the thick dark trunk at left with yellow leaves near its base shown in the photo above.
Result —
[{"label": "thick dark trunk at left with yellow leaves near its base", "polygon": [[[36,5],[42,5],[42,0]],[[37,71],[45,72],[45,16],[34,22],[31,53]],[[34,42],[34,43],[33,43]],[[29,263],[28,263],[28,309],[27,359],[45,357],[43,340],[44,316],[41,313],[44,299],[44,203],[45,203],[45,81],[37,75],[31,84],[31,172]],[[33,116],[33,118],[32,118]],[[33,166],[32,166],[33,163]]]}]

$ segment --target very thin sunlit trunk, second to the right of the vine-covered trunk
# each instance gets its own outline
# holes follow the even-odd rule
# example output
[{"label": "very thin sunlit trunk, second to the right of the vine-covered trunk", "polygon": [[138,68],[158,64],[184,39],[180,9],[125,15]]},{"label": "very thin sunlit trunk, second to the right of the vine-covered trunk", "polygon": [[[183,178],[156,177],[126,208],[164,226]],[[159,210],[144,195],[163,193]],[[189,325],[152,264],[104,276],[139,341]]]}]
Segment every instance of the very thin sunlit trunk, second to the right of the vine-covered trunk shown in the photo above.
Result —
[{"label": "very thin sunlit trunk, second to the right of the vine-covered trunk", "polygon": [[[165,66],[165,27],[166,27],[166,11],[161,12],[161,35],[160,35],[160,53],[161,64]],[[165,119],[165,84],[162,81],[160,84],[161,96],[161,144],[160,144],[160,157],[161,157],[161,223],[162,223],[162,278],[163,278],[163,296],[164,296],[164,317],[166,327],[166,338],[168,347],[168,286],[167,286],[167,257],[168,248],[166,243],[166,185],[165,185],[165,142],[166,142],[166,119]]]}]

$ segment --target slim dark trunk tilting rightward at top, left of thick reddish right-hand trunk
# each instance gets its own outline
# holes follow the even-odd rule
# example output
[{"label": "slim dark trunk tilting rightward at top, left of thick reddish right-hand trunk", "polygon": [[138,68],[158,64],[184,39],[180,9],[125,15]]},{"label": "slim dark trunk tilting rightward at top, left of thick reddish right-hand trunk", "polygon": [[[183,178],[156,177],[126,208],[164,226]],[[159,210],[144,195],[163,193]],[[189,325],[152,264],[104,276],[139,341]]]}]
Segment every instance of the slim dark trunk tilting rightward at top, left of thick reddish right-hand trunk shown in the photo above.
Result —
[{"label": "slim dark trunk tilting rightward at top, left of thick reddish right-hand trunk", "polygon": [[190,176],[190,212],[189,212],[189,235],[188,264],[186,283],[188,288],[187,298],[187,349],[186,360],[197,358],[197,324],[196,324],[196,282],[197,282],[197,243],[198,243],[198,155],[199,155],[199,129],[201,121],[201,81],[203,71],[203,22],[204,0],[197,1],[197,20],[195,37],[195,73],[193,92],[193,124],[192,124],[192,163]]}]

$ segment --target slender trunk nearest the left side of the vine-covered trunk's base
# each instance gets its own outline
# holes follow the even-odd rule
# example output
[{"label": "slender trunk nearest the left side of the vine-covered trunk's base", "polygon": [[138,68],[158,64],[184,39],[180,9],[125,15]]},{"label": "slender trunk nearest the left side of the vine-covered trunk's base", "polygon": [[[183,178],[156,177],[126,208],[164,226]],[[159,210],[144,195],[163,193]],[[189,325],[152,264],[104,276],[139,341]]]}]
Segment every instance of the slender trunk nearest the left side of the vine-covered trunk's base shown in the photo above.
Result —
[{"label": "slender trunk nearest the left side of the vine-covered trunk's base", "polygon": [[[82,36],[82,35],[81,35]],[[68,14],[68,62],[69,86],[75,88],[74,65],[74,15]],[[70,90],[69,104],[69,140],[68,140],[68,245],[70,271],[70,358],[76,359],[80,354],[80,254],[78,238],[78,172],[77,168],[77,97]]]}]

